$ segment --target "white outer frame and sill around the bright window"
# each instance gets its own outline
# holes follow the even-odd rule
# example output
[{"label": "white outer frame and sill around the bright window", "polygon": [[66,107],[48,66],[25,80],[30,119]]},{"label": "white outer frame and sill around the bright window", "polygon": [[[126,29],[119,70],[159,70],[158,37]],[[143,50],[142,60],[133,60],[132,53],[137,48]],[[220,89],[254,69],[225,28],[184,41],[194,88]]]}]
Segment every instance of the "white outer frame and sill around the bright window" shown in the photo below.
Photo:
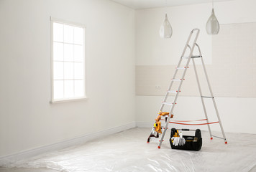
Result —
[{"label": "white outer frame and sill around the bright window", "polygon": [[[51,25],[51,30],[50,30],[50,44],[51,44],[51,100],[50,103],[57,103],[57,102],[72,102],[72,101],[78,101],[78,100],[86,100],[86,26],[83,24],[77,24],[74,22],[67,22],[61,19],[55,19],[50,17],[50,25]],[[69,26],[73,27],[81,27],[84,30],[83,33],[83,85],[84,85],[84,96],[83,97],[70,97],[70,98],[63,98],[63,99],[54,99],[54,77],[53,77],[53,64],[54,64],[54,59],[53,59],[53,23],[60,23],[60,24],[67,24]]]}]

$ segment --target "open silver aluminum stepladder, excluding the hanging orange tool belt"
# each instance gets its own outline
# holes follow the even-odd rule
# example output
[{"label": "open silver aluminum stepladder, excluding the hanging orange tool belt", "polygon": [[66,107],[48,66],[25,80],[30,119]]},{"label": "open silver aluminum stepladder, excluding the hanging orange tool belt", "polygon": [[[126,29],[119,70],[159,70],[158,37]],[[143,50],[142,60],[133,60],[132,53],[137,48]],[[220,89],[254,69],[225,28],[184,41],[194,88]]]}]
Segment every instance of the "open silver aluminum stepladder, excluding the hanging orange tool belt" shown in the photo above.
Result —
[{"label": "open silver aluminum stepladder, excluding the hanging orange tool belt", "polygon": [[[218,120],[219,120],[218,122],[215,122],[215,123],[219,123],[219,126],[220,126],[220,128],[221,128],[221,133],[222,133],[222,136],[223,136],[223,138],[221,138],[221,139],[223,139],[223,140],[224,140],[224,143],[227,144],[227,138],[226,138],[226,135],[225,135],[224,130],[223,130],[223,127],[222,127],[221,119],[220,119],[220,117],[219,117],[219,111],[218,111],[218,109],[217,109],[216,102],[215,102],[215,100],[214,100],[214,94],[213,94],[213,92],[212,92],[212,90],[211,90],[211,85],[210,85],[210,82],[209,82],[209,77],[208,77],[207,72],[206,72],[206,67],[205,67],[205,65],[204,65],[204,59],[202,58],[201,49],[200,49],[200,47],[198,46],[198,44],[196,43],[196,41],[197,41],[197,39],[198,39],[199,33],[200,33],[200,30],[199,30],[199,29],[193,29],[193,30],[191,31],[191,33],[189,34],[188,40],[187,40],[186,45],[185,45],[185,47],[184,47],[184,49],[183,49],[183,53],[182,53],[182,55],[181,55],[181,57],[180,57],[180,60],[179,60],[179,62],[178,62],[178,66],[176,67],[176,70],[175,70],[175,72],[174,72],[173,79],[172,79],[171,82],[170,82],[170,86],[168,87],[168,90],[167,90],[167,92],[166,92],[166,94],[165,94],[165,98],[164,98],[164,100],[163,100],[163,102],[162,102],[162,105],[161,105],[161,107],[160,107],[160,112],[163,110],[163,108],[164,108],[165,105],[169,105],[169,106],[170,106],[170,110],[169,110],[168,118],[167,118],[167,120],[165,121],[165,128],[164,128],[164,130],[163,130],[161,139],[159,140],[160,143],[159,143],[159,145],[158,145],[158,148],[160,148],[161,145],[162,145],[162,143],[163,143],[163,138],[165,137],[165,133],[166,133],[166,130],[168,129],[168,124],[169,124],[169,122],[170,122],[170,116],[173,114],[173,110],[174,110],[174,108],[175,108],[176,101],[177,101],[177,99],[178,99],[178,95],[179,95],[179,93],[180,93],[180,88],[181,88],[181,85],[182,85],[182,83],[183,83],[183,80],[184,80],[184,77],[185,77],[185,75],[186,75],[186,72],[187,72],[187,70],[188,70],[188,65],[189,65],[189,62],[191,61],[191,59],[192,59],[192,62],[193,62],[194,72],[195,72],[195,74],[196,74],[196,82],[197,82],[197,84],[198,84],[198,89],[199,89],[199,93],[200,93],[200,96],[201,96],[201,102],[202,102],[202,105],[203,105],[203,108],[204,108],[204,115],[205,115],[205,117],[206,117],[206,122],[207,122],[206,124],[208,125],[208,130],[209,130],[210,137],[211,137],[211,139],[213,139],[213,137],[214,137],[214,138],[221,138],[221,137],[218,137],[218,136],[215,136],[215,135],[212,135],[212,134],[211,134],[211,128],[210,128],[210,125],[209,125],[209,124],[211,124],[211,123],[209,123],[209,118],[208,118],[208,115],[207,115],[207,113],[206,113],[206,106],[205,106],[205,103],[204,103],[204,98],[211,98],[211,99],[212,99],[212,101],[213,101],[213,103],[214,103],[214,108],[215,108],[215,110],[216,110],[216,115],[217,115],[217,118],[218,118]],[[195,35],[195,37],[194,37],[193,44],[192,44],[192,47],[191,47],[191,46],[189,45],[189,42],[191,41],[191,37],[192,37],[193,34],[196,34],[196,35]],[[196,55],[196,56],[193,55],[193,50],[194,50],[195,47],[198,48],[198,52],[199,52],[199,55]],[[184,55],[185,55],[185,53],[186,53],[187,48],[190,49],[190,53],[189,53],[189,56],[188,56],[188,57],[185,57]],[[200,86],[200,82],[199,82],[199,79],[198,79],[198,74],[197,74],[197,71],[196,71],[196,64],[195,64],[195,61],[194,61],[195,58],[201,59],[202,66],[203,66],[203,68],[204,68],[204,73],[205,73],[205,76],[206,76],[206,81],[207,81],[207,84],[208,84],[208,86],[209,86],[209,91],[210,91],[211,97],[202,95],[201,86]],[[181,62],[182,62],[183,59],[187,59],[187,60],[188,60],[188,61],[186,62],[186,67],[180,67],[180,64],[181,64]],[[184,70],[181,79],[175,78],[176,75],[177,75],[178,70]],[[178,90],[171,90],[171,87],[173,86],[173,82],[180,82],[180,84],[178,85]],[[173,102],[166,102],[166,101],[168,100],[168,97],[170,96],[169,93],[173,93],[173,92],[175,92],[175,97],[174,97]],[[154,129],[154,127],[153,127],[153,129]],[[151,133],[150,133],[150,137],[151,137],[151,135],[154,135],[154,133],[155,133],[155,130],[153,130],[153,129],[152,129],[152,131],[151,131]],[[158,133],[157,133],[157,135],[158,135]],[[147,142],[150,142],[150,139],[151,139],[150,137],[148,138],[148,141],[147,141]]]}]

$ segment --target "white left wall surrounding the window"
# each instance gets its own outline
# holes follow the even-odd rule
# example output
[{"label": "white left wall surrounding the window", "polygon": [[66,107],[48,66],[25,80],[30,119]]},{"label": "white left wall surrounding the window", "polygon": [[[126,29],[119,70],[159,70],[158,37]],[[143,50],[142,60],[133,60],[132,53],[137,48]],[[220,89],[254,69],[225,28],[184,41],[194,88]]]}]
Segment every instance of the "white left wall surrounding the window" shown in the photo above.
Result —
[{"label": "white left wall surrounding the window", "polygon": [[[88,100],[49,103],[50,16],[86,25]],[[0,0],[0,25],[0,156],[134,122],[134,10]]]}]

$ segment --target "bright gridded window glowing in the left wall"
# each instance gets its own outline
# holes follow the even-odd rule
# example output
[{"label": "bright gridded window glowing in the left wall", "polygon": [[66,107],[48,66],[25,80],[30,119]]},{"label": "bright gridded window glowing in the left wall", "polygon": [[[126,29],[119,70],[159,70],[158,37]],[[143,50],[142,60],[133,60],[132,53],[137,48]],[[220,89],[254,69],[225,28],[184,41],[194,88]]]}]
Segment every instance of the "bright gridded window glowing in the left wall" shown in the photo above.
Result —
[{"label": "bright gridded window glowing in the left wall", "polygon": [[85,95],[85,27],[52,19],[52,100]]}]

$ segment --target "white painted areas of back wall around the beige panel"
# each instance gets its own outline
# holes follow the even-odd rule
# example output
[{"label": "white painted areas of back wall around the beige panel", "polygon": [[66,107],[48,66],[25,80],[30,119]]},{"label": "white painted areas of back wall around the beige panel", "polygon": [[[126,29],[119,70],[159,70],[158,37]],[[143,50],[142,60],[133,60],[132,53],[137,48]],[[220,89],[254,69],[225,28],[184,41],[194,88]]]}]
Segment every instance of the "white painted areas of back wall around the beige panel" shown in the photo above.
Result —
[{"label": "white painted areas of back wall around the beige panel", "polygon": [[[255,6],[256,1],[254,0],[234,0],[215,3],[214,9],[220,24],[234,24],[256,22]],[[164,8],[136,11],[136,65],[176,65],[188,34],[194,27],[201,29],[198,44],[201,46],[206,64],[211,65],[211,36],[207,35],[205,31],[207,19],[211,14],[211,4],[168,7],[166,11],[173,27],[171,39],[160,39],[158,34],[164,18]],[[168,78],[163,78],[163,80],[168,80]],[[148,125],[150,121],[152,123],[163,96],[137,95],[136,100],[137,121],[140,122],[138,124]],[[184,117],[183,120],[195,120],[204,116],[202,112],[198,115],[199,109],[196,110],[192,103],[200,103],[196,97],[179,97],[178,100],[180,108],[177,106],[175,118]],[[219,106],[224,130],[237,133],[256,133],[254,126],[256,118],[253,115],[256,98],[216,97],[216,102]],[[212,110],[213,108],[209,108],[210,112]],[[214,127],[214,130],[217,129]]]}]

